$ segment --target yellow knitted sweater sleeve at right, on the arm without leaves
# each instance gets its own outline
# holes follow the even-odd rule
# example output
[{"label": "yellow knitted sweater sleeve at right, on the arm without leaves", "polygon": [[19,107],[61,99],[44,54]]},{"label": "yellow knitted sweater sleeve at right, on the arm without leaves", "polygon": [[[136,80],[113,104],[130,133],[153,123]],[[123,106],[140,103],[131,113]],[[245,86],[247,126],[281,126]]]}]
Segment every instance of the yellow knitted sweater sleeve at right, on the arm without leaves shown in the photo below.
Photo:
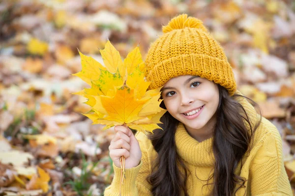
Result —
[{"label": "yellow knitted sweater sleeve at right, on the arm without leaves", "polygon": [[252,160],[249,182],[252,196],[293,196],[284,167],[282,140],[278,130],[271,128]]}]

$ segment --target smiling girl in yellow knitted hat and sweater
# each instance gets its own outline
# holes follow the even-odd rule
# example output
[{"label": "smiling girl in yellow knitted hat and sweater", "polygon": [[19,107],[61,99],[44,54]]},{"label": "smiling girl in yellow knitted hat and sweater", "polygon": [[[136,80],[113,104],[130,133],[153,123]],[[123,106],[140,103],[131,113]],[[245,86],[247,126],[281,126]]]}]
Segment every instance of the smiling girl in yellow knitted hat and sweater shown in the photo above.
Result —
[{"label": "smiling girl in yellow knitted hat and sweater", "polygon": [[182,14],[163,32],[146,59],[149,89],[162,87],[163,130],[134,136],[115,127],[104,195],[119,195],[124,156],[122,196],[292,196],[278,130],[236,90],[202,21]]}]

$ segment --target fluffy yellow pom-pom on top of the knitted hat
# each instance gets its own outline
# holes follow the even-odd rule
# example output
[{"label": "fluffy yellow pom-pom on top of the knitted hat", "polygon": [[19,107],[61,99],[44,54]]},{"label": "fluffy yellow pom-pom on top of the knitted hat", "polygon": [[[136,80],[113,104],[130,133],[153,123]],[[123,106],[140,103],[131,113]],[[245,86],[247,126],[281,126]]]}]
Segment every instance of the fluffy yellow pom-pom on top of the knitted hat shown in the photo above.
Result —
[{"label": "fluffy yellow pom-pom on top of the knitted hat", "polygon": [[207,32],[207,28],[203,25],[203,22],[201,20],[193,17],[187,17],[187,14],[181,14],[171,19],[168,25],[162,27],[162,31],[166,33],[174,29],[181,29],[186,27],[200,28]]}]

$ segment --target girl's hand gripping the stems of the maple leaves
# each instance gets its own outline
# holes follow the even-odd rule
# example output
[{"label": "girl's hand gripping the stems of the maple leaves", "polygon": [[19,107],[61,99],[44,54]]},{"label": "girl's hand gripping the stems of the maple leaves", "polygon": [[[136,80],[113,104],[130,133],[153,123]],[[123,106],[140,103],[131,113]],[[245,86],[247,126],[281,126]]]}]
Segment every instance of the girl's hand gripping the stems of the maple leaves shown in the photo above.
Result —
[{"label": "girl's hand gripping the stems of the maple leaves", "polygon": [[134,168],[139,165],[142,152],[138,140],[132,131],[125,126],[115,126],[117,132],[109,146],[110,157],[116,167],[120,168],[120,157],[125,157],[125,168]]}]

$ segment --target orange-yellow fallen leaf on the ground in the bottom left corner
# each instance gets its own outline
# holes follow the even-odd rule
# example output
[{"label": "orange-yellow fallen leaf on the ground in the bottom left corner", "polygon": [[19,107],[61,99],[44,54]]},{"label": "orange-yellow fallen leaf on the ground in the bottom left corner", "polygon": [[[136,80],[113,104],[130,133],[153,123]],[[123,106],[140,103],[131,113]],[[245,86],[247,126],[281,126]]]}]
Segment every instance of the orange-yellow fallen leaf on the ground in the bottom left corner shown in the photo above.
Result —
[{"label": "orange-yellow fallen leaf on the ground in the bottom left corner", "polygon": [[28,190],[42,189],[43,193],[47,193],[49,189],[48,182],[50,181],[49,174],[43,169],[37,167],[38,174],[34,174],[27,184]]}]

